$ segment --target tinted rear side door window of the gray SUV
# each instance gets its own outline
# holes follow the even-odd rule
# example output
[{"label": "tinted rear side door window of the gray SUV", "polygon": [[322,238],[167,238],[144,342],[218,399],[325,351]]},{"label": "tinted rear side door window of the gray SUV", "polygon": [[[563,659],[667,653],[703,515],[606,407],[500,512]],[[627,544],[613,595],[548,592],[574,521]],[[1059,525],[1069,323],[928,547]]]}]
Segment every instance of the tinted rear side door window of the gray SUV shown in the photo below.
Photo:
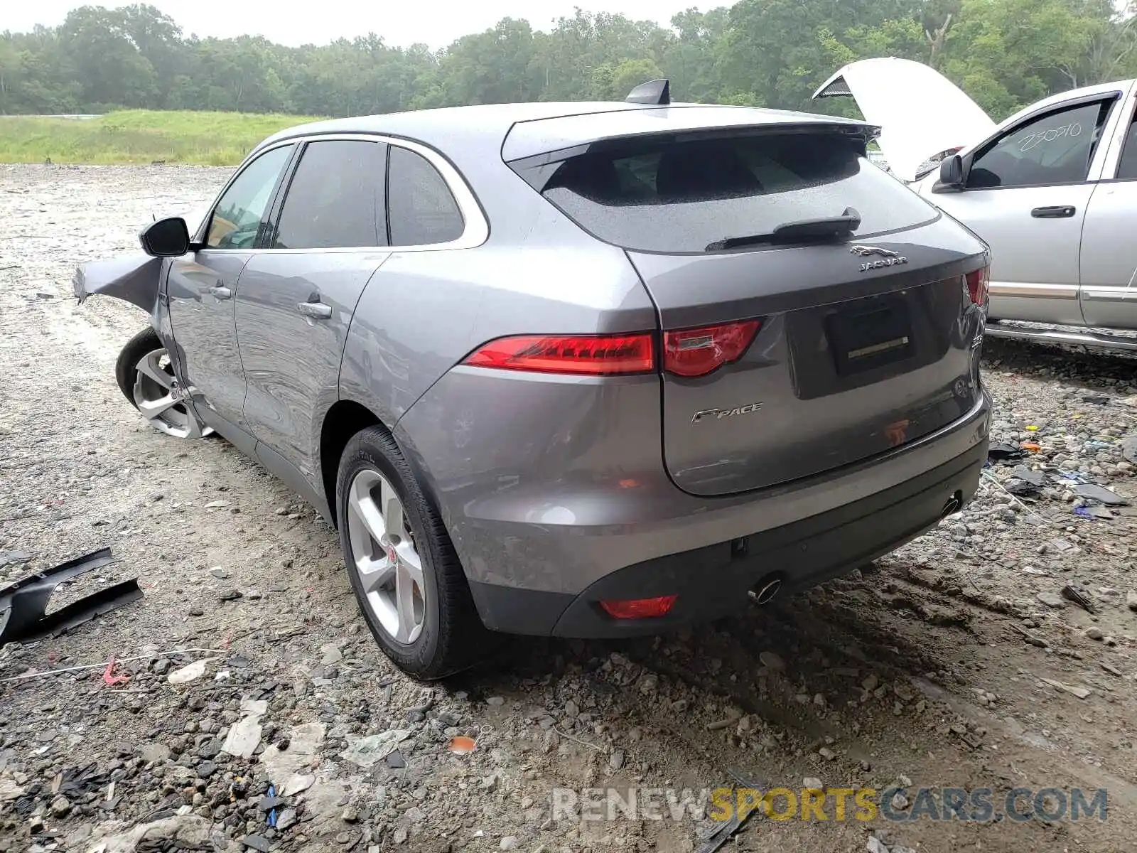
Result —
[{"label": "tinted rear side door window of the gray SUV", "polygon": [[382,142],[309,142],[289,184],[271,248],[385,246],[385,154]]}]

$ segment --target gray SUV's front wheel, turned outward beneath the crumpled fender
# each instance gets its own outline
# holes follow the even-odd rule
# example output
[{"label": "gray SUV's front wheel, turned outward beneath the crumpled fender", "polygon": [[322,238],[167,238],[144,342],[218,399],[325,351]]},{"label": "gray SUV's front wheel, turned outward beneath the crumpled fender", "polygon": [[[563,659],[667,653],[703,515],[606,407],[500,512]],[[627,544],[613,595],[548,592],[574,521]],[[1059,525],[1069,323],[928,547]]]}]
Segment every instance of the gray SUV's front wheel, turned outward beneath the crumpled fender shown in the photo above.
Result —
[{"label": "gray SUV's front wheel, turned outward beneath the crumpled fender", "polygon": [[115,379],[131,405],[159,432],[174,438],[201,438],[211,432],[201,428],[185,405],[169,354],[153,329],[143,329],[123,347]]}]

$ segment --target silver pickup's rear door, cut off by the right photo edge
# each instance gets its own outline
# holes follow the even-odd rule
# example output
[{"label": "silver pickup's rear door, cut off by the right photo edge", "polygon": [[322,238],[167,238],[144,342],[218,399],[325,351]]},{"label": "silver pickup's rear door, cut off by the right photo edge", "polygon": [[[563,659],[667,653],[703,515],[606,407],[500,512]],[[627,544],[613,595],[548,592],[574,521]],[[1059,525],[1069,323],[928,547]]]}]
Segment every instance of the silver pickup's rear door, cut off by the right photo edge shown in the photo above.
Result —
[{"label": "silver pickup's rear door, cut off by the right photo edge", "polygon": [[1081,314],[1087,325],[1137,329],[1137,115],[1126,100],[1081,234]]}]

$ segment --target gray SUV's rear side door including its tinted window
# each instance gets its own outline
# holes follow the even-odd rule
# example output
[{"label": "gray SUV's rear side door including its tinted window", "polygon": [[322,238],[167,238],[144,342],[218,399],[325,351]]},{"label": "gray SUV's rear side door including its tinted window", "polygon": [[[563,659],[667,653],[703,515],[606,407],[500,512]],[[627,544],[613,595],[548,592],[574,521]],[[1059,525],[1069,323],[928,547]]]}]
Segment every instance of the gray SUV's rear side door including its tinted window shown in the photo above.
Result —
[{"label": "gray SUV's rear side door including its tinted window", "polygon": [[[382,141],[305,143],[264,248],[241,275],[244,417],[277,455],[265,464],[294,486],[299,472],[301,487],[319,488],[319,417],[339,397],[340,359],[359,295],[390,254],[385,173]],[[293,471],[282,471],[281,458]]]}]

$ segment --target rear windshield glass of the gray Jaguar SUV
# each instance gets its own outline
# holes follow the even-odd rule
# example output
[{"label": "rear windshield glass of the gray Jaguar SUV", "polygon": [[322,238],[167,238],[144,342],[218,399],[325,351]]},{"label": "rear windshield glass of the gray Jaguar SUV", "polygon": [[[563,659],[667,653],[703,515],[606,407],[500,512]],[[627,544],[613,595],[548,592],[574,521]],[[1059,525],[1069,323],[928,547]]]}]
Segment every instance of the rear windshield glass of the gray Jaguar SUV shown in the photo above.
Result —
[{"label": "rear windshield glass of the gray Jaguar SUV", "polygon": [[836,133],[633,140],[564,160],[539,189],[586,231],[641,251],[700,252],[847,207],[861,214],[854,238],[937,215]]}]

